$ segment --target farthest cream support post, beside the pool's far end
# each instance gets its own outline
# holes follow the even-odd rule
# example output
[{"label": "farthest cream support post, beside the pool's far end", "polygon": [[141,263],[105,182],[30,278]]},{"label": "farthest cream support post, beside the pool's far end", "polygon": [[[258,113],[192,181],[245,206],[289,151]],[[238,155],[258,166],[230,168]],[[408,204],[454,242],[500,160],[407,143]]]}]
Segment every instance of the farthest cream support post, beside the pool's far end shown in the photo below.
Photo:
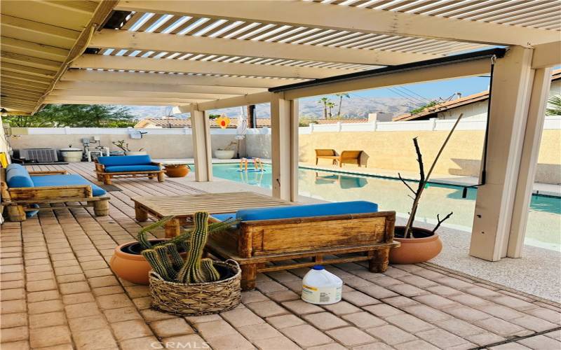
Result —
[{"label": "farthest cream support post, beside the pool's far end", "polygon": [[212,181],[210,122],[205,111],[198,111],[196,104],[191,104],[191,127],[193,130],[195,180],[198,182]]}]

